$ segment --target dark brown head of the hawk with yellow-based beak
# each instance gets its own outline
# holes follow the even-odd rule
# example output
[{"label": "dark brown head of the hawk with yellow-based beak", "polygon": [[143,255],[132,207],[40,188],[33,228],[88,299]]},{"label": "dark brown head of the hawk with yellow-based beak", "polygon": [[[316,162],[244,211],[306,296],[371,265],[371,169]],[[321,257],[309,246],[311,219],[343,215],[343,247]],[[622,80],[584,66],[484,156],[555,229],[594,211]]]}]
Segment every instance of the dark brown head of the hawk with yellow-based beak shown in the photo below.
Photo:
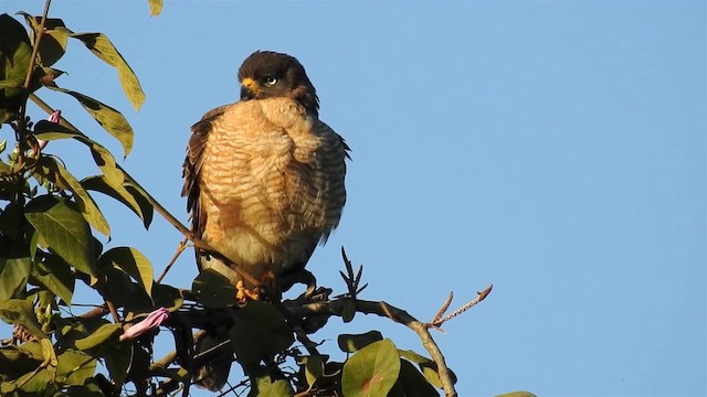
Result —
[{"label": "dark brown head of the hawk with yellow-based beak", "polygon": [[241,100],[285,97],[317,115],[319,98],[304,66],[294,56],[256,51],[239,68]]}]

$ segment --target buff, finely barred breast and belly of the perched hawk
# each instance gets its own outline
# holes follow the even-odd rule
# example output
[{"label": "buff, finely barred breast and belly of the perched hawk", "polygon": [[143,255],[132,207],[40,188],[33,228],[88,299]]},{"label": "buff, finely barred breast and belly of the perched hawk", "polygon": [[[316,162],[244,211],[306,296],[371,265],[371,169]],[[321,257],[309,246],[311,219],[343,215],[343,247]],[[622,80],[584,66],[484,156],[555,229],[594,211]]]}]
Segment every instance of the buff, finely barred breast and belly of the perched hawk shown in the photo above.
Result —
[{"label": "buff, finely barred breast and belly of the perched hawk", "polygon": [[304,267],[339,223],[346,143],[292,99],[231,105],[201,155],[202,238],[256,278]]}]

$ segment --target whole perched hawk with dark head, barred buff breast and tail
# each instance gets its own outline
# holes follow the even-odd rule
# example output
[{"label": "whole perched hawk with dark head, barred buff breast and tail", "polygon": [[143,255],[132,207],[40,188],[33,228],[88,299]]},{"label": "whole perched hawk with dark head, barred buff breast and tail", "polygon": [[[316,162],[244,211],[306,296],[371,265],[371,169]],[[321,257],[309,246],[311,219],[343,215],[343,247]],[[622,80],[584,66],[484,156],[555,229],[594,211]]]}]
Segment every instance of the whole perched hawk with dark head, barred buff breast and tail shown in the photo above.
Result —
[{"label": "whole perched hawk with dark head, barred buff breast and tail", "polygon": [[[346,202],[348,150],[319,120],[319,99],[293,56],[257,51],[239,69],[241,99],[208,111],[192,128],[182,195],[197,237],[276,289],[304,270],[316,246],[337,227]],[[198,253],[242,291],[254,286],[215,256]],[[257,289],[255,289],[257,293]],[[205,351],[224,340],[202,339]],[[225,384],[232,353],[198,369],[199,386]]]}]

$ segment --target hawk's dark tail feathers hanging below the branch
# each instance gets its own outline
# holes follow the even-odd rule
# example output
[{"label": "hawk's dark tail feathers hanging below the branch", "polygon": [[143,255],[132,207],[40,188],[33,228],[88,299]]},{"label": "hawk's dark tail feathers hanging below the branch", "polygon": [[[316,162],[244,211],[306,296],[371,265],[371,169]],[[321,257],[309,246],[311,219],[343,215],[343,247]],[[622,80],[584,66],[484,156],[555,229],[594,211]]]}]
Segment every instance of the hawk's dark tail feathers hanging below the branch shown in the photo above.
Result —
[{"label": "hawk's dark tail feathers hanging below the branch", "polygon": [[[196,353],[208,352],[225,341],[228,341],[226,337],[207,334],[197,343]],[[218,351],[205,354],[205,362],[194,372],[194,384],[201,388],[218,391],[223,388],[229,379],[233,351],[230,345],[225,345]]]}]

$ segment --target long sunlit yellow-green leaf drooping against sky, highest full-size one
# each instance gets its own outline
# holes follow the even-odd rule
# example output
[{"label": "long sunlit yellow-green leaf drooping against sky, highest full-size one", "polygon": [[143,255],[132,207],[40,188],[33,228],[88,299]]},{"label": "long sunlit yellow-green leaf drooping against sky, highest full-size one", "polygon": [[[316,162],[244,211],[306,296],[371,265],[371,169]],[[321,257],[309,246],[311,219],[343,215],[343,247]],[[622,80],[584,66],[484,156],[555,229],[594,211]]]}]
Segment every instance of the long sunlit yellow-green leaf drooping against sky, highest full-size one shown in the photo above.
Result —
[{"label": "long sunlit yellow-green leaf drooping against sky, highest full-size one", "polygon": [[128,97],[128,100],[130,100],[130,104],[133,104],[135,110],[139,110],[145,101],[145,93],[143,93],[140,82],[138,82],[135,72],[133,72],[128,63],[125,62],[123,55],[120,55],[118,50],[110,43],[108,37],[103,33],[72,33],[70,36],[80,40],[94,55],[118,71],[118,78],[120,79],[125,95]]}]

